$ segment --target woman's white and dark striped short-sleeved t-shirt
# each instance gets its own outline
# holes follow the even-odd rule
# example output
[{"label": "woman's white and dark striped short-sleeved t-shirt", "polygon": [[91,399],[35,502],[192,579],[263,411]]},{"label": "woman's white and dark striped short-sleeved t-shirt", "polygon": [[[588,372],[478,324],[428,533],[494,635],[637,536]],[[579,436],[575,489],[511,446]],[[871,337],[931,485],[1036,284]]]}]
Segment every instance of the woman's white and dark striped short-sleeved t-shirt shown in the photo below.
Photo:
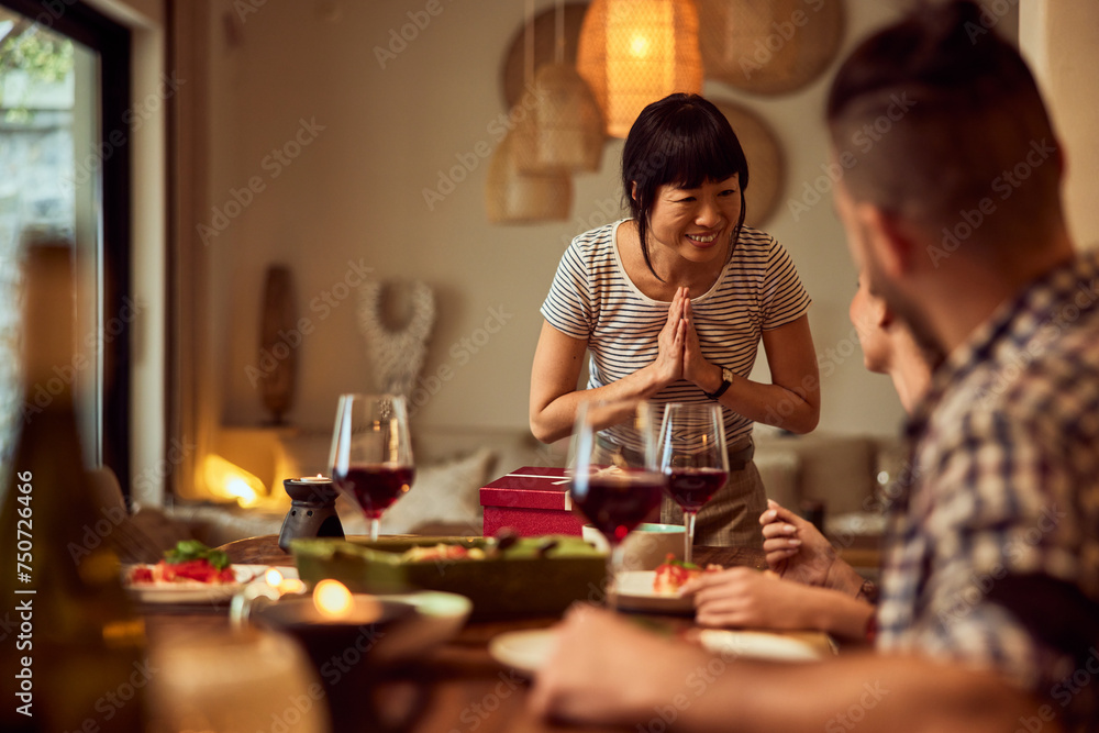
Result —
[{"label": "woman's white and dark striped short-sleeved t-shirt", "polygon": [[[562,256],[542,315],[553,327],[588,342],[588,389],[602,387],[652,364],[671,303],[646,297],[626,276],[615,246],[621,220],[586,232]],[[782,246],[766,232],[744,226],[732,259],[710,290],[691,299],[702,355],[747,377],[764,330],[796,321],[809,310],[809,295]],[[680,379],[653,399],[709,402]],[[730,445],[752,432],[752,421],[723,409]],[[607,431],[613,440],[614,430]]]}]

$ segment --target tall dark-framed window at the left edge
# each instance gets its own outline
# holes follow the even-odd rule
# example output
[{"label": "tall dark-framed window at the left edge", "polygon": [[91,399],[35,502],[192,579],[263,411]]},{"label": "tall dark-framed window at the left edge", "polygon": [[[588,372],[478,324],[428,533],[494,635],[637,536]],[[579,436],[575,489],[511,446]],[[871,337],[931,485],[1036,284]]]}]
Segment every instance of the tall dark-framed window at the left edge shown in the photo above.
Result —
[{"label": "tall dark-framed window at the left edge", "polygon": [[[130,33],[75,0],[0,0],[0,455],[24,406],[19,382],[19,252],[35,230],[74,242],[75,382],[86,463],[127,489],[130,456]],[[32,385],[31,400],[51,384]]]}]

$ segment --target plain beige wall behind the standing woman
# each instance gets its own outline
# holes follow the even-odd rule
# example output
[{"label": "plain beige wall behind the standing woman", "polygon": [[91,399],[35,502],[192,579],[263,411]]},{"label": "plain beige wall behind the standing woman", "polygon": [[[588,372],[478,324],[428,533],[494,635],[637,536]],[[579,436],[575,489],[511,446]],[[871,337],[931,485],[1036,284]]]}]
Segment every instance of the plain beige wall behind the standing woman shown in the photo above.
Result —
[{"label": "plain beige wall behind the standing woman", "polygon": [[[267,2],[241,16],[247,3],[210,1],[211,206],[224,211],[234,189],[248,199],[241,191],[249,179],[263,186],[238,215],[217,222],[227,226],[209,237],[223,421],[265,419],[246,368],[258,365],[260,290],[271,263],[293,268],[299,312],[313,327],[298,352],[290,419],[328,429],[340,392],[373,388],[354,298],[328,312],[310,309],[344,280],[348,262],[362,260],[378,279],[419,278],[435,288],[439,318],[423,374],[448,367],[453,378],[422,407],[418,422],[525,426],[539,307],[568,238],[587,227],[584,222],[608,221],[608,202],[620,200],[621,143],[607,145],[598,174],[576,179],[570,222],[490,225],[487,159],[433,211],[422,196],[457,156],[468,159],[479,143],[495,142],[490,125],[506,112],[501,59],[523,21],[523,3],[442,0],[443,12],[382,69],[375,46],[388,44],[390,31],[424,2]],[[552,4],[543,0],[539,8]],[[850,0],[845,48],[901,4]],[[706,93],[750,104],[784,145],[784,204],[765,229],[790,251],[814,300],[810,319],[825,376],[820,430],[891,433],[901,410],[888,379],[862,366],[847,320],[856,274],[831,201],[824,197],[798,221],[785,203],[802,195],[826,159],[821,118],[828,76],[775,99],[715,82],[707,84]],[[315,138],[278,168],[268,156],[293,140],[301,120],[315,121]],[[211,211],[206,223],[215,223],[213,216]],[[481,330],[493,309],[506,322],[487,334]],[[468,342],[463,345],[484,336],[476,354]]]}]

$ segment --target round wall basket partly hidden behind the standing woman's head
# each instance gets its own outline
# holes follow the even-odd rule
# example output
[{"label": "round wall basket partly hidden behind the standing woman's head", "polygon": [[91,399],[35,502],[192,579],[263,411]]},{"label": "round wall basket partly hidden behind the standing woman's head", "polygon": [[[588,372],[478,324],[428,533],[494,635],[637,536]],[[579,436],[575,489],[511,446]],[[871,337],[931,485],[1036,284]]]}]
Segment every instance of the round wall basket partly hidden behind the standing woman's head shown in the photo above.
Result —
[{"label": "round wall basket partly hidden behind the standing woman's head", "polygon": [[741,141],[748,159],[748,187],[744,191],[744,223],[761,226],[778,206],[786,180],[786,164],[778,138],[763,118],[733,102],[713,101]]}]

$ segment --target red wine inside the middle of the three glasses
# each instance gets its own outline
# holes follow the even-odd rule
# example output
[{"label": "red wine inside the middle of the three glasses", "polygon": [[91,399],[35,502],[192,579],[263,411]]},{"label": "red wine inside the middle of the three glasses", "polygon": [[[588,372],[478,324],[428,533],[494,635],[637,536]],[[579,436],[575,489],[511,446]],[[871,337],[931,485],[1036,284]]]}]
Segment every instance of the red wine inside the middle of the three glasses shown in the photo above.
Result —
[{"label": "red wine inside the middle of the three glasses", "polygon": [[653,473],[577,476],[570,493],[607,542],[618,545],[660,503],[665,482]]}]

